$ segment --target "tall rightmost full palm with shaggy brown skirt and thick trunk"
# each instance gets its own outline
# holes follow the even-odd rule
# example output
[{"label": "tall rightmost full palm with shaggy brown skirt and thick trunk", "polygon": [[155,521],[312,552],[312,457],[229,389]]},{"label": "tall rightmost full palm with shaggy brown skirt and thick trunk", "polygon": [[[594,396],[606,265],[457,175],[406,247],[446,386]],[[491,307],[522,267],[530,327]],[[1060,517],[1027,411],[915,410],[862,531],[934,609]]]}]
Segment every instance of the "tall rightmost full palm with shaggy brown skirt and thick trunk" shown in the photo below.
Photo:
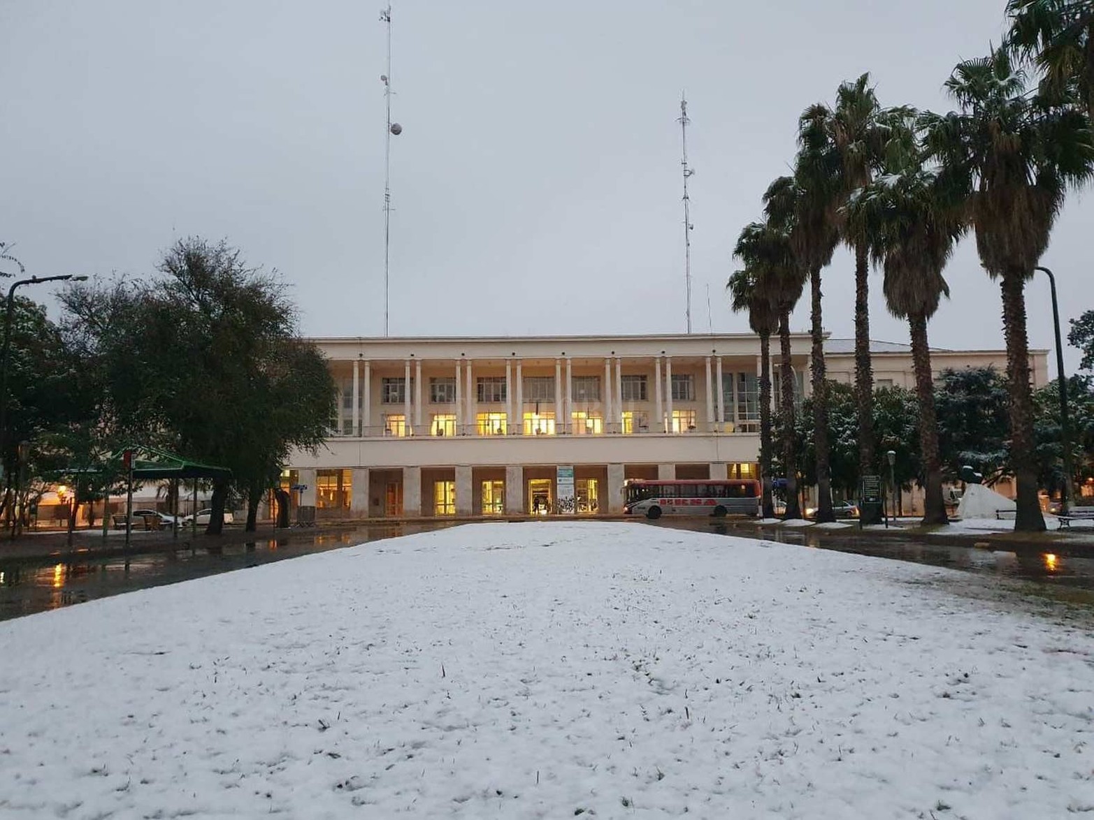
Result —
[{"label": "tall rightmost full palm with shaggy brown skirt and thick trunk", "polygon": [[1092,176],[1094,134],[1075,107],[1055,104],[1058,95],[1026,95],[1024,74],[1002,50],[959,63],[946,89],[962,110],[923,115],[921,126],[928,151],[967,197],[980,262],[1000,281],[1010,459],[1017,480],[1014,529],[1040,531],[1023,289],[1048,246],[1068,188]]}]

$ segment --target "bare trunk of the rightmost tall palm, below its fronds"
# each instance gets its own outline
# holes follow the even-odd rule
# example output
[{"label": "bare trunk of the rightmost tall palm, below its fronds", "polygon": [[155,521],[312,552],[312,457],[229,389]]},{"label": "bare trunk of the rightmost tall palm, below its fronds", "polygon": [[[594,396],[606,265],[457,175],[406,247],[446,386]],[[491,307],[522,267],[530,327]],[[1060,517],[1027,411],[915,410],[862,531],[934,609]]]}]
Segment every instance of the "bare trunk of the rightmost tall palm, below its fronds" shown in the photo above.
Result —
[{"label": "bare trunk of the rightmost tall palm, below its fronds", "polygon": [[1043,532],[1045,516],[1040,514],[1037,500],[1037,468],[1033,458],[1033,391],[1029,387],[1024,286],[1021,272],[1003,273],[1003,335],[1006,339],[1006,377],[1011,394],[1011,470],[1019,491],[1014,531]]}]

